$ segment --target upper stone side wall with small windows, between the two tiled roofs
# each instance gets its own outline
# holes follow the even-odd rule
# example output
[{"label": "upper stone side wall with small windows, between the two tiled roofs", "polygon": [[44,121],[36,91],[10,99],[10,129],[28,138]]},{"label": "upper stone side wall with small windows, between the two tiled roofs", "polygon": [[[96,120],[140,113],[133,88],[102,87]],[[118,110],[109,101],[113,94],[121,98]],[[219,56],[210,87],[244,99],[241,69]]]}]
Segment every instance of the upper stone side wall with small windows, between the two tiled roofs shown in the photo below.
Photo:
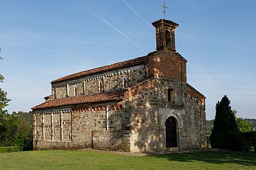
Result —
[{"label": "upper stone side wall with small windows, between the two tiled roofs", "polygon": [[[123,79],[127,79],[126,85],[132,86],[146,77],[146,70],[144,65],[127,67],[125,69],[106,72],[105,74],[89,76],[82,79],[72,80],[68,82],[60,82],[52,85],[52,99],[66,98],[67,97],[67,84],[69,95],[75,96],[76,94],[92,94],[99,92],[99,81],[103,83],[104,91],[111,91],[124,88]],[[84,81],[84,82],[83,82]]]}]

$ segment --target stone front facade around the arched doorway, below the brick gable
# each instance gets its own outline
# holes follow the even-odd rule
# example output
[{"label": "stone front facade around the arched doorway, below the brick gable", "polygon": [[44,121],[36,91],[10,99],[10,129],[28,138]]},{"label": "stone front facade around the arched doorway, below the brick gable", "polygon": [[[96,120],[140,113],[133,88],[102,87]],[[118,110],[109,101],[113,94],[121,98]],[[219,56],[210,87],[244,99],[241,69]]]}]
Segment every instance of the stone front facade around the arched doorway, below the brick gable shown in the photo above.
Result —
[{"label": "stone front facade around the arched doorway, below the brick gable", "polygon": [[[155,78],[155,88],[156,91],[151,89],[141,92],[141,95],[136,95],[137,99],[129,103],[132,120],[131,151],[166,148],[165,121],[170,116],[176,119],[177,148],[205,147],[205,108],[197,99],[190,99],[187,96],[183,98],[182,94],[186,93],[187,84],[183,82],[181,86],[178,79],[158,77]],[[175,103],[167,100],[167,89],[175,89]]]}]

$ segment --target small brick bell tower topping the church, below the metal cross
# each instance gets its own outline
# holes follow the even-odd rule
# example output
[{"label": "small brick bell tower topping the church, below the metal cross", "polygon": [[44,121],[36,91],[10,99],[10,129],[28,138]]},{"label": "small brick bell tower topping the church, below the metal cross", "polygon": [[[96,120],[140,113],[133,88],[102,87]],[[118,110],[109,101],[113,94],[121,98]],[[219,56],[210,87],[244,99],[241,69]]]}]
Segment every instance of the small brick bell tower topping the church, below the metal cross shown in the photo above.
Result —
[{"label": "small brick bell tower topping the church, below the metal cross", "polygon": [[168,48],[176,51],[174,30],[179,26],[178,23],[161,19],[153,22],[152,25],[156,28],[156,50]]}]

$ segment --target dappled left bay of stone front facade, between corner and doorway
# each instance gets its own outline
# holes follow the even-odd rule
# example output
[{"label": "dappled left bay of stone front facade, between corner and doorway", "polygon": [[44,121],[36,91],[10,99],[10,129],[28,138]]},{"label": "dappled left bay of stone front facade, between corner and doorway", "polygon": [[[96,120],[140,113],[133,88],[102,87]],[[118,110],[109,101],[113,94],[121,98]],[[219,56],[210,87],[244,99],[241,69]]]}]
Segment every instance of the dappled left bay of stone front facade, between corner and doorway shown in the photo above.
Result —
[{"label": "dappled left bay of stone front facade, between corner and doorway", "polygon": [[159,149],[157,94],[146,91],[129,102],[131,111],[131,152]]}]

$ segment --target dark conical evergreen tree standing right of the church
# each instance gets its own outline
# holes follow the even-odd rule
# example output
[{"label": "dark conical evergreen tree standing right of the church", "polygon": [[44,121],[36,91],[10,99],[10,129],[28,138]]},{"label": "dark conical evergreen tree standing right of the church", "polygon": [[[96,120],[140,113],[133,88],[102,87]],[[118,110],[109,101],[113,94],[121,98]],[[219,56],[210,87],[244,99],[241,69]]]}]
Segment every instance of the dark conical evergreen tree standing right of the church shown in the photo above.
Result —
[{"label": "dark conical evergreen tree standing right of the church", "polygon": [[227,148],[229,143],[223,141],[226,133],[238,132],[235,116],[232,113],[230,100],[225,95],[216,104],[216,115],[210,136],[213,148]]}]

